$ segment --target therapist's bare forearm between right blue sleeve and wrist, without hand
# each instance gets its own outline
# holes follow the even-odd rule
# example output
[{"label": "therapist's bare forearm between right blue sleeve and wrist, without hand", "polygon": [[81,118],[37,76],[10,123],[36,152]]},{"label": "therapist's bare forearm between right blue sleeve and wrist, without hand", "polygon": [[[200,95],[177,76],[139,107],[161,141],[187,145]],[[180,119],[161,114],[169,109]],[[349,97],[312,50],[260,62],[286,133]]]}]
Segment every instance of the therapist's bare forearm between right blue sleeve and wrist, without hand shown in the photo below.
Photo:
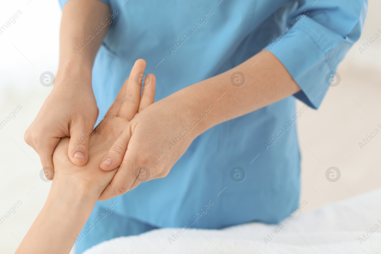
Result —
[{"label": "therapist's bare forearm between right blue sleeve and wrist, without hand", "polygon": [[[243,86],[231,83],[231,76],[237,71],[246,77]],[[261,51],[231,70],[181,89],[169,96],[168,101],[175,104],[174,108],[185,102],[186,109],[182,112],[187,120],[195,119],[208,105],[213,106],[208,121],[201,121],[200,128],[194,132],[198,136],[212,126],[280,101],[299,90],[282,63],[272,53]]]}]

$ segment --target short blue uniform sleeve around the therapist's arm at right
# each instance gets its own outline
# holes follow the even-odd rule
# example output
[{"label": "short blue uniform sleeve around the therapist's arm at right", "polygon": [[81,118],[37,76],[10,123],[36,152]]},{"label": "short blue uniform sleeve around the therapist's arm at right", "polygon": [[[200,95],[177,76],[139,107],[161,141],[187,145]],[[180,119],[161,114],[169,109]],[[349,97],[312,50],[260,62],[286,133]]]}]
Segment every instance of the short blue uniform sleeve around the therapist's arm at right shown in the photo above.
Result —
[{"label": "short blue uniform sleeve around the therapist's arm at right", "polygon": [[[294,96],[317,109],[346,52],[361,34],[367,0],[299,1],[284,31],[266,48],[301,88]],[[268,51],[267,51],[268,50]],[[328,78],[327,78],[328,77]],[[328,83],[327,83],[328,80]]]}]

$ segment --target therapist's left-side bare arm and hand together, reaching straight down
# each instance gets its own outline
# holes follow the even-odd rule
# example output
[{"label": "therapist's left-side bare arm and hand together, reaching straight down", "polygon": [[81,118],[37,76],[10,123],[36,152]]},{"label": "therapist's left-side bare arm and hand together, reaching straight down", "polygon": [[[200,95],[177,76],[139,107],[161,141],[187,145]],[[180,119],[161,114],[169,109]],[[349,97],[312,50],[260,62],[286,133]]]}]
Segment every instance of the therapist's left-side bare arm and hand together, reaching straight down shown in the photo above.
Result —
[{"label": "therapist's left-side bare arm and hand together, reaching straight down", "polygon": [[91,69],[109,25],[77,54],[73,47],[94,33],[91,29],[109,14],[109,6],[98,0],[72,0],[62,9],[60,67],[51,93],[24,135],[27,144],[40,155],[42,166],[51,168],[50,180],[54,175],[53,152],[61,137],[70,137],[67,150],[70,160],[78,166],[87,163],[89,141],[82,144],[78,139],[93,129],[98,117]]}]

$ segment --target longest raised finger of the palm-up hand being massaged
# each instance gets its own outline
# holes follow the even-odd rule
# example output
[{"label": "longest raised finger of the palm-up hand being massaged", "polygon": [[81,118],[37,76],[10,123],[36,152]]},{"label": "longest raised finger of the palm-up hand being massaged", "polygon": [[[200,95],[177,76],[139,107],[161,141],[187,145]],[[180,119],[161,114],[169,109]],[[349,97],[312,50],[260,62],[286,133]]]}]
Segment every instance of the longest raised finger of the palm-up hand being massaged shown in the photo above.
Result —
[{"label": "longest raised finger of the palm-up hand being massaged", "polygon": [[143,81],[144,69],[146,68],[146,61],[143,59],[136,60],[134,66],[131,69],[130,77],[128,77],[126,97],[122,100],[119,117],[126,118],[130,121],[136,112],[138,112],[140,95],[141,95],[141,83]]}]

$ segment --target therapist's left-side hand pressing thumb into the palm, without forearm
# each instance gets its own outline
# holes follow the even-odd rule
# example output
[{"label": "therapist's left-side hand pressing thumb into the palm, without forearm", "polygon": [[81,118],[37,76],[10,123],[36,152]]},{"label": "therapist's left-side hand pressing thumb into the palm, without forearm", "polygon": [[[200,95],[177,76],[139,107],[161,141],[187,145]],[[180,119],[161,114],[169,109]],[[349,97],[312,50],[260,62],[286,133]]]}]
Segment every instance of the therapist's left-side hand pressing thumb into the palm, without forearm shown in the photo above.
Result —
[{"label": "therapist's left-side hand pressing thumb into the palm, without forearm", "polygon": [[[54,168],[52,156],[61,137],[70,137],[67,153],[78,166],[88,160],[86,135],[94,128],[98,108],[91,88],[91,70],[58,73],[53,90],[24,139],[40,155],[43,167]],[[54,171],[49,179],[53,179]]]}]

